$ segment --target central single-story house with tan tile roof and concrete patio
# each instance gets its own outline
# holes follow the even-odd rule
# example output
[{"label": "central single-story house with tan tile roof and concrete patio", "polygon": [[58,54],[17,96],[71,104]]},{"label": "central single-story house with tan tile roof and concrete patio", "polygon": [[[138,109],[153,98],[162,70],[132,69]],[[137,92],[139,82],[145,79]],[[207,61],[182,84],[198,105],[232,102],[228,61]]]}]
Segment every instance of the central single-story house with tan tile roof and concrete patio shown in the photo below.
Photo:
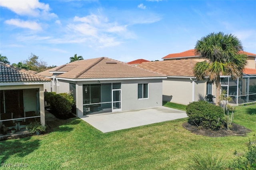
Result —
[{"label": "central single-story house with tan tile roof and concrete patio", "polygon": [[77,117],[162,106],[162,79],[167,78],[107,57],[74,61],[37,75],[52,79],[51,91],[73,92]]}]

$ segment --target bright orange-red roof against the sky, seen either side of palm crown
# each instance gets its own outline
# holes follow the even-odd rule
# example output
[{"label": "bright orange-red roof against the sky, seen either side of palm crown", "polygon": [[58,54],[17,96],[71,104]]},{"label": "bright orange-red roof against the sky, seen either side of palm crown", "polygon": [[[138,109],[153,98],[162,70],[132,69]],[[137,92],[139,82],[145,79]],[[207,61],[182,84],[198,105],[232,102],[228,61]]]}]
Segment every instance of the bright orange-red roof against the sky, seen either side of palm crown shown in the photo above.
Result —
[{"label": "bright orange-red roof against the sky, seen either side of palm crown", "polygon": [[[245,53],[248,56],[255,56],[256,57],[256,54],[254,54],[254,53],[249,53],[249,52],[246,52],[246,51],[242,51],[242,52]],[[184,58],[184,57],[186,57],[186,58],[188,58],[188,57],[199,57],[199,55],[195,54],[195,49],[189,49],[189,50],[183,51],[181,53],[168,54],[165,57],[162,57],[162,59]]]}]

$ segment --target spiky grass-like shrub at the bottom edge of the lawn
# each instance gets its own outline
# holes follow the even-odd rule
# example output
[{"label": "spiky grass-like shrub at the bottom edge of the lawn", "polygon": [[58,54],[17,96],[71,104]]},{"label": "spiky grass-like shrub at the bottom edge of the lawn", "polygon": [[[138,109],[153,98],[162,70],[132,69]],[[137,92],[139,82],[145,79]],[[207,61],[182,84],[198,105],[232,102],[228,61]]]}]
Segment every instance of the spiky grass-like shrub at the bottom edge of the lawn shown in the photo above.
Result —
[{"label": "spiky grass-like shrub at the bottom edge of the lawn", "polygon": [[222,157],[213,155],[208,152],[206,154],[197,154],[192,157],[192,162],[188,163],[189,170],[225,170],[226,163],[222,161]]}]

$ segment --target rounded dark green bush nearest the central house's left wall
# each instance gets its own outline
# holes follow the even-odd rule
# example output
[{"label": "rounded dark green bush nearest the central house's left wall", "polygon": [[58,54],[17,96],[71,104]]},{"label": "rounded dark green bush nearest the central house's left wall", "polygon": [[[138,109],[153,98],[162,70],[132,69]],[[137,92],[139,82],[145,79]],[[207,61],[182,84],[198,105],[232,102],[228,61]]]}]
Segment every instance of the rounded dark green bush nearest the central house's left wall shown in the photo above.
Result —
[{"label": "rounded dark green bush nearest the central house's left wall", "polygon": [[54,108],[58,115],[68,116],[74,105],[74,98],[71,93],[60,93],[54,95]]}]

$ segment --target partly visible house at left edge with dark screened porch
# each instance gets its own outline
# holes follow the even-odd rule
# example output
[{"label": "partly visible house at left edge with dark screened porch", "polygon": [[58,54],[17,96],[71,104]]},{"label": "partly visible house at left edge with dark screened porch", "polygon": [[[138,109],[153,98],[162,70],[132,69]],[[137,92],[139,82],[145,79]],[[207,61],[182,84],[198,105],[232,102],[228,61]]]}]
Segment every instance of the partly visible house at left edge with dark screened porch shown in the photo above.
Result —
[{"label": "partly visible house at left edge with dark screened porch", "polygon": [[31,121],[44,119],[44,83],[50,79],[36,72],[0,63],[0,127],[14,128],[17,133],[26,131]]}]

